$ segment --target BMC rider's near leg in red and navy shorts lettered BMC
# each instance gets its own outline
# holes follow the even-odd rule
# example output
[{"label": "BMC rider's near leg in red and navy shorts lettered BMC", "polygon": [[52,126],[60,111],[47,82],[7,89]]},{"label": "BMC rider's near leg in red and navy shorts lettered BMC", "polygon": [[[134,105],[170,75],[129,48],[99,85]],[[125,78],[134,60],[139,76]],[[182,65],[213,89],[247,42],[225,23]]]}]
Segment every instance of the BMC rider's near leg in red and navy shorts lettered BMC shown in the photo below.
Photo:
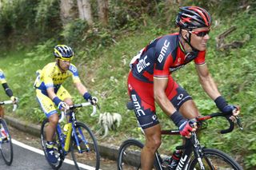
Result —
[{"label": "BMC rider's near leg in red and navy shorts lettered BMC", "polygon": [[153,84],[138,81],[130,74],[128,92],[134,104],[134,113],[146,135],[142,148],[142,169],[152,169],[154,153],[161,144],[161,128],[155,114]]}]

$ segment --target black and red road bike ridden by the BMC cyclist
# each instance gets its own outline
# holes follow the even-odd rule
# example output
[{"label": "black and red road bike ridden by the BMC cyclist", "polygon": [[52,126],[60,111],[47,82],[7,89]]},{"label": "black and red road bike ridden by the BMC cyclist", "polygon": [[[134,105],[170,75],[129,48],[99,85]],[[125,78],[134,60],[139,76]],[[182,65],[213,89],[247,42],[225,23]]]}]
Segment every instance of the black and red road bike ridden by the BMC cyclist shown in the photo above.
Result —
[{"label": "black and red road bike ridden by the BMC cyclist", "polygon": [[[130,109],[130,108],[129,108]],[[232,132],[234,129],[234,122],[230,120],[230,115],[226,115],[225,113],[212,113],[210,115],[206,115],[204,117],[196,117],[198,130],[202,129],[202,127],[206,128],[206,121],[212,119],[213,117],[225,117],[229,122],[230,127],[220,132],[222,134],[227,132]],[[238,123],[238,127],[242,129],[241,121],[239,117],[236,117],[236,121]],[[175,168],[177,170],[186,169],[201,169],[201,170],[215,170],[215,169],[234,169],[234,170],[242,170],[242,167],[229,155],[226,153],[214,149],[214,148],[206,148],[203,147],[198,140],[198,136],[196,132],[191,132],[192,135],[190,139],[186,139],[186,143],[182,146],[177,146],[177,150],[182,150],[182,157],[179,160],[178,166]],[[180,135],[178,129],[174,130],[162,130],[162,135]],[[118,170],[126,170],[126,169],[141,169],[141,150],[143,148],[143,144],[139,140],[128,139],[125,140],[119,150],[118,150]],[[168,161],[170,160],[170,156],[161,155],[158,151],[154,156],[154,169],[157,170],[167,170]]]}]

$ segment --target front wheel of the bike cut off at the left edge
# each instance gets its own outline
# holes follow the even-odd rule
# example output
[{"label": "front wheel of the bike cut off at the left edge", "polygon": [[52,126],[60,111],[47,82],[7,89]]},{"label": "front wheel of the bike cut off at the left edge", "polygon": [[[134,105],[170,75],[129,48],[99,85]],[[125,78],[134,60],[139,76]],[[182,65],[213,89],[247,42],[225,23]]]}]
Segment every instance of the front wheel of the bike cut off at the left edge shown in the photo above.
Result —
[{"label": "front wheel of the bike cut off at the left edge", "polygon": [[10,132],[7,127],[6,121],[3,119],[0,119],[0,125],[2,125],[2,128],[4,128],[6,132],[6,137],[4,139],[2,139],[2,135],[0,136],[1,137],[1,142],[0,142],[1,155],[5,163],[10,166],[14,158],[13,143],[11,141],[11,136],[10,136]]}]

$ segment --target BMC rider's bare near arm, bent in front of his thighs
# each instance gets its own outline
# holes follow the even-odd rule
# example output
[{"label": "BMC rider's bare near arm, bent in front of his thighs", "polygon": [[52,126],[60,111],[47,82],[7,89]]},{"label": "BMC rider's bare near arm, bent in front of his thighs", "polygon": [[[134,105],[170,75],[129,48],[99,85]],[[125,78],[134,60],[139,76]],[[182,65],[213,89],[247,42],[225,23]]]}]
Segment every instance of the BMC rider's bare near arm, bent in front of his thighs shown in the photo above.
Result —
[{"label": "BMC rider's bare near arm, bent in front of his thighs", "polygon": [[154,100],[158,103],[160,108],[166,115],[172,115],[176,109],[171,104],[168,97],[166,97],[166,87],[168,85],[168,77],[154,77]]}]

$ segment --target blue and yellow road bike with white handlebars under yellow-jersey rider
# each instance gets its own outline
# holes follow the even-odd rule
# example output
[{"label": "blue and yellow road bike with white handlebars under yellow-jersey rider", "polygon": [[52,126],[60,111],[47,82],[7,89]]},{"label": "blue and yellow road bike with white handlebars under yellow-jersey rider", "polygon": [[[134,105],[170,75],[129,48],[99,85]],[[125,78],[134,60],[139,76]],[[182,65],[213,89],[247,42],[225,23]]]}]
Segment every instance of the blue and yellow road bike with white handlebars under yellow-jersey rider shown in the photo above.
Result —
[{"label": "blue and yellow road bike with white handlebars under yellow-jersey rider", "polygon": [[[56,164],[51,163],[47,159],[46,128],[49,125],[49,120],[46,118],[44,121],[42,121],[42,150],[45,153],[46,160],[54,169],[58,169],[62,166],[62,162],[69,152],[71,152],[71,156],[77,169],[82,169],[80,167],[82,165],[81,163],[88,165],[90,169],[99,169],[100,155],[94,133],[86,124],[78,122],[75,117],[75,110],[84,106],[93,107],[93,112],[90,114],[90,116],[93,116],[96,113],[96,107],[94,105],[91,105],[90,102],[72,105],[70,106],[68,112],[62,112],[62,116],[58,121],[56,132],[54,134],[54,154],[58,159],[58,162]],[[63,128],[61,124],[65,116],[69,116],[68,124],[66,124],[69,129],[67,131],[67,134],[62,132]]]}]

